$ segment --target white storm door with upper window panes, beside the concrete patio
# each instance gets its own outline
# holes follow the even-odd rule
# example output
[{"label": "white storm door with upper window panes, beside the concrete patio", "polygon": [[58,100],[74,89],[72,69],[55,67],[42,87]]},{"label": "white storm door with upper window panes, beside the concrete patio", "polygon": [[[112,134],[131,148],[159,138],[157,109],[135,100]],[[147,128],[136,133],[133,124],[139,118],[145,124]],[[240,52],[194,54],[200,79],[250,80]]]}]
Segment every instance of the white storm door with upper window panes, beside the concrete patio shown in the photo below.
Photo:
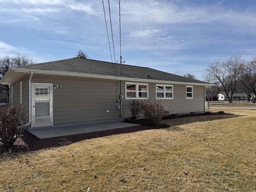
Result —
[{"label": "white storm door with upper window panes, beside the concrete patio", "polygon": [[32,83],[32,128],[53,126],[52,84]]}]

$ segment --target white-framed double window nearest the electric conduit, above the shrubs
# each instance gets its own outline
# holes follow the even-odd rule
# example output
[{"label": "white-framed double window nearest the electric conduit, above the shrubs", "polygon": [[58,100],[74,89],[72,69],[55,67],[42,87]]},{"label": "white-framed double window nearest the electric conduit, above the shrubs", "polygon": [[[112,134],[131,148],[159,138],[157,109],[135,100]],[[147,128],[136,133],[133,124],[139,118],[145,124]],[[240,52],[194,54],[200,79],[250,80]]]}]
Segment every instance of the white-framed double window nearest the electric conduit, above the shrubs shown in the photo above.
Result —
[{"label": "white-framed double window nearest the electric conduit, above the shrubs", "polygon": [[148,98],[148,84],[125,83],[126,99],[146,99]]}]

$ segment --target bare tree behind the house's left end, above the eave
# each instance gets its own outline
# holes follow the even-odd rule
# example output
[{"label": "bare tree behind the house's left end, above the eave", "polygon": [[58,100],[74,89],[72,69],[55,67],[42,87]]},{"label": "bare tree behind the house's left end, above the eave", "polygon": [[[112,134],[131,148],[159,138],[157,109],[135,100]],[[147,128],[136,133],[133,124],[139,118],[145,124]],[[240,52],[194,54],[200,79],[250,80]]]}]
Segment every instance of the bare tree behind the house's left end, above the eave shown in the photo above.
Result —
[{"label": "bare tree behind the house's left end, above the eave", "polygon": [[[0,80],[12,67],[23,66],[28,64],[34,64],[35,61],[28,58],[27,56],[16,54],[16,56],[0,56]],[[0,85],[0,94],[6,94],[9,96],[9,87],[8,85]]]}]

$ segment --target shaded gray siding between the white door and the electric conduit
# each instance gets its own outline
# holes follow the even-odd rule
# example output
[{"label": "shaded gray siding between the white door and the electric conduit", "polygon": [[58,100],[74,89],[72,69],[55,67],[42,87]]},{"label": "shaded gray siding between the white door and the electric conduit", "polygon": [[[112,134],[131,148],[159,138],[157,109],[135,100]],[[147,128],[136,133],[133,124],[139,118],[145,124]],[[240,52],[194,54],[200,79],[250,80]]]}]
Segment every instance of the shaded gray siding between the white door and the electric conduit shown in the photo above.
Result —
[{"label": "shaded gray siding between the white door and the electric conduit", "polygon": [[115,80],[34,75],[32,82],[62,86],[53,89],[54,124],[108,120],[120,114]]}]

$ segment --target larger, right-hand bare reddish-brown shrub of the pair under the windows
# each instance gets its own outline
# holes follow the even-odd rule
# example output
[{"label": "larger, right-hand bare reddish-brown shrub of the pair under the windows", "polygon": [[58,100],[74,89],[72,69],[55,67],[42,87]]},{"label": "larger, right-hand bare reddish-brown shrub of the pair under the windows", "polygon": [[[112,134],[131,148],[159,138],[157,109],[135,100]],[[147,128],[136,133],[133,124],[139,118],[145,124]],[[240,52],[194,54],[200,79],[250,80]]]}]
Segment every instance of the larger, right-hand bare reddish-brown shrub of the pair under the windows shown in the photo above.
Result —
[{"label": "larger, right-hand bare reddish-brown shrub of the pair under the windows", "polygon": [[167,104],[164,104],[161,100],[156,100],[155,98],[142,100],[140,105],[142,113],[148,118],[148,121],[152,126],[157,126],[160,123],[168,109]]}]

